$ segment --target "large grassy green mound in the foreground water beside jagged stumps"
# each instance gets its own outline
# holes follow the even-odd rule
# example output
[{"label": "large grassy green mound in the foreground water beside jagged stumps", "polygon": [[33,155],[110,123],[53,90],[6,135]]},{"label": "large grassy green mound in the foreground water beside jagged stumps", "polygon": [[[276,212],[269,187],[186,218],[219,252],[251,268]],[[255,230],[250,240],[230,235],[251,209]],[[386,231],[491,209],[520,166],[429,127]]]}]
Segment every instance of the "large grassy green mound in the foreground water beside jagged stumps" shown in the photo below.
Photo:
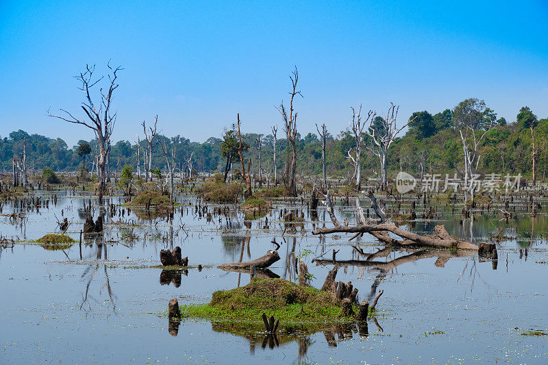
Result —
[{"label": "large grassy green mound in the foreground water beside jagged stumps", "polygon": [[[280,323],[332,323],[340,314],[334,295],[284,279],[258,279],[241,288],[213,293],[209,304],[184,305],[182,316],[210,320],[261,322],[261,314]],[[358,310],[355,306],[354,310]],[[352,318],[342,318],[342,320]]]}]

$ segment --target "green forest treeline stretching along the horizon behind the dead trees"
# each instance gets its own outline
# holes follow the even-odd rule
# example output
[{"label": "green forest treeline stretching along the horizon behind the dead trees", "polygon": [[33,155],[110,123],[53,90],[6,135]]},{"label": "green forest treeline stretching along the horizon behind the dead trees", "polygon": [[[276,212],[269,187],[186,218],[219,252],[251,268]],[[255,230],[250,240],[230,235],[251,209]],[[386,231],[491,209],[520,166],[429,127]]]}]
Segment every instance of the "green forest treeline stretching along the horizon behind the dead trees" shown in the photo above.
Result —
[{"label": "green forest treeline stretching along the horizon behind the dead trees", "polygon": [[[349,120],[351,113],[349,113]],[[400,132],[398,138],[388,150],[388,175],[396,171],[407,171],[412,174],[423,173],[462,173],[464,170],[463,141],[461,133],[470,133],[466,143],[469,149],[477,144],[478,173],[518,174],[525,177],[532,175],[533,159],[535,162],[536,179],[546,179],[548,160],[548,118],[539,118],[534,111],[524,106],[516,111],[514,121],[497,118],[497,113],[488,108],[482,100],[466,99],[453,108],[441,112],[414,112],[407,120],[400,118],[398,127],[411,121],[407,129]],[[382,135],[382,116],[375,116],[371,121],[371,130]],[[63,123],[59,121],[58,123]],[[343,131],[333,131],[327,126],[326,136],[326,168],[331,177],[347,177],[352,168],[349,164],[349,153],[355,153],[356,138],[350,128]],[[369,122],[364,129],[368,129]],[[245,133],[242,125],[242,142],[247,147],[244,159],[251,158],[251,172],[258,172],[258,156],[260,138],[260,154],[263,176],[273,171],[273,153],[276,148],[276,164],[281,171],[286,160],[286,136],[282,130],[283,121],[279,123],[277,142],[274,146],[272,133]],[[314,126],[315,127],[315,126]],[[299,125],[297,125],[299,129]],[[116,131],[114,131],[115,133]],[[405,132],[405,133],[404,133]],[[471,136],[475,137],[472,138]],[[166,158],[162,150],[162,141],[168,149],[175,149],[176,170],[187,168],[188,159],[192,156],[192,168],[197,173],[224,172],[227,158],[232,158],[232,171],[240,166],[237,156],[231,155],[229,144],[237,137],[234,125],[219,131],[218,136],[212,136],[206,142],[191,142],[182,136],[155,136],[153,147],[152,168],[165,171]],[[366,177],[375,177],[379,173],[379,158],[373,155],[370,148],[373,140],[363,133],[360,164]],[[297,134],[297,175],[321,175],[321,140],[318,134],[309,133],[306,136]],[[160,143],[162,142],[162,143]],[[533,143],[534,142],[534,143]],[[86,144],[89,144],[87,149]],[[41,171],[42,168],[52,168],[54,171],[76,171],[86,164],[92,168],[92,160],[97,154],[95,139],[80,140],[76,146],[69,147],[62,138],[47,138],[27,131],[12,131],[9,136],[0,139],[1,171],[12,171],[12,159],[21,158],[25,145],[27,166],[31,170]],[[144,154],[147,141],[143,136],[140,141],[140,164],[144,164]],[[224,146],[224,147],[223,147]],[[125,165],[137,165],[136,144],[127,140],[119,140],[111,144],[110,169],[121,171]],[[534,153],[533,153],[534,152]],[[141,168],[145,171],[144,168]],[[273,177],[273,175],[271,175]]]}]

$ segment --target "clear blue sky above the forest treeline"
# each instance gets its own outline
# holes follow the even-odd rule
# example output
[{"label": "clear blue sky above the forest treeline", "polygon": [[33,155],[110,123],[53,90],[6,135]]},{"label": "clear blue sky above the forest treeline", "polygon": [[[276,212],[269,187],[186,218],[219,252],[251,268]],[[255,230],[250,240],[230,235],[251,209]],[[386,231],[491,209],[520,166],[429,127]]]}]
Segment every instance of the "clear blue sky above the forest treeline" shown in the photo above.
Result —
[{"label": "clear blue sky above the forest treeline", "polygon": [[45,114],[80,113],[73,76],[121,64],[113,140],[203,141],[240,112],[244,131],[281,120],[300,74],[298,129],[348,125],[351,105],[438,112],[484,99],[507,121],[548,116],[548,1],[0,1],[0,135],[25,129],[69,147],[92,134]]}]

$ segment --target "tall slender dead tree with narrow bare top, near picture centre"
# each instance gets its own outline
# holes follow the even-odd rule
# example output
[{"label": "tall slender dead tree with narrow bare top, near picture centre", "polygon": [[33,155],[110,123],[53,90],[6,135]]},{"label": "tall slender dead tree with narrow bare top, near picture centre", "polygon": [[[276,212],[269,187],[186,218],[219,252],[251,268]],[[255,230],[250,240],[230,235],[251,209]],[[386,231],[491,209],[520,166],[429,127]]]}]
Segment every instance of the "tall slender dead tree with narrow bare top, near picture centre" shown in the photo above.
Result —
[{"label": "tall slender dead tree with narrow bare top, near picture centre", "polygon": [[297,175],[297,144],[295,143],[295,138],[297,138],[297,112],[293,109],[293,100],[295,95],[301,95],[301,92],[297,90],[297,82],[299,81],[299,72],[297,67],[293,71],[292,76],[289,77],[291,80],[292,90],[289,92],[290,101],[289,101],[289,110],[286,110],[284,101],[276,107],[279,114],[282,114],[282,119],[284,120],[284,131],[286,131],[287,137],[287,157],[286,157],[286,168],[284,174],[284,184],[288,194],[292,197],[297,197],[297,184],[295,177]]}]

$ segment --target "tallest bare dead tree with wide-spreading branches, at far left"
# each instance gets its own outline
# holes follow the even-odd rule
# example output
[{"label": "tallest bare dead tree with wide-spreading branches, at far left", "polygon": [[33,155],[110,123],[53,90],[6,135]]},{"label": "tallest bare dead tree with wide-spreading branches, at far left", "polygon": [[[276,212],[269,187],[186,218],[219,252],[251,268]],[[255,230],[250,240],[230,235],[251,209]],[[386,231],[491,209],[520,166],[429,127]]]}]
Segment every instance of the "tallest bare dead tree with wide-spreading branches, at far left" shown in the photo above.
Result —
[{"label": "tallest bare dead tree with wide-spreading branches, at far left", "polygon": [[71,114],[70,112],[67,112],[63,109],[61,109],[61,111],[64,112],[66,116],[48,114],[48,116],[51,116],[53,118],[60,118],[63,121],[67,121],[69,123],[85,125],[89,129],[92,129],[94,131],[95,138],[97,138],[97,142],[99,145],[99,156],[97,159],[97,170],[99,172],[99,201],[103,199],[103,194],[106,191],[105,165],[108,160],[108,154],[110,152],[110,136],[112,135],[112,130],[114,129],[114,124],[116,123],[116,112],[112,112],[111,110],[112,98],[114,90],[116,90],[116,88],[118,88],[119,86],[116,81],[118,79],[117,73],[118,71],[123,70],[121,66],[112,68],[110,64],[107,64],[107,67],[110,70],[110,74],[108,75],[108,91],[104,93],[102,88],[99,89],[99,92],[101,94],[99,109],[97,109],[97,107],[93,103],[90,94],[93,86],[97,85],[97,83],[99,83],[99,81],[103,79],[102,76],[97,80],[92,79],[93,72],[95,71],[95,66],[90,67],[86,64],[86,71],[84,73],[80,73],[80,75],[75,77],[78,81],[82,83],[82,86],[79,88],[79,90],[82,90],[82,92],[84,92],[85,101],[83,101],[82,105],[80,106],[82,110],[84,110],[89,121],[80,120],[73,116],[73,114]]}]

